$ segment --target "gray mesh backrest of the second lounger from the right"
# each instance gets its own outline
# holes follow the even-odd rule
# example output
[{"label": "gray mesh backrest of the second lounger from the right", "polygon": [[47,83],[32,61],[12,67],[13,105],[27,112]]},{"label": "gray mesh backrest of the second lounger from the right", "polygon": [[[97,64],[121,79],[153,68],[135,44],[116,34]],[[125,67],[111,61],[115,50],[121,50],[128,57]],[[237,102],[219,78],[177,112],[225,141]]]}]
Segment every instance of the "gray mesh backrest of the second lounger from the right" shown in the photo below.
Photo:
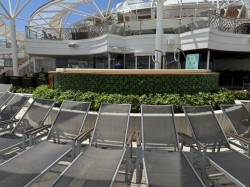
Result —
[{"label": "gray mesh backrest of the second lounger from the right", "polygon": [[230,145],[211,106],[183,106],[194,138],[208,148],[221,148]]}]

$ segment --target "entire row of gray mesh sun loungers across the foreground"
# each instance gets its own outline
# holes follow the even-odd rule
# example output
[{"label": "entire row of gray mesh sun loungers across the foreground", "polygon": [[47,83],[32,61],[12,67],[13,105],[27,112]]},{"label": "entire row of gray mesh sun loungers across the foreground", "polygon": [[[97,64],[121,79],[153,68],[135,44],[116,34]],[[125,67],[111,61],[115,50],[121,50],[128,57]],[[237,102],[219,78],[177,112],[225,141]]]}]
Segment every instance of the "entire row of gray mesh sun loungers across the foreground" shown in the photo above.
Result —
[{"label": "entire row of gray mesh sun loungers across the foreground", "polygon": [[[2,97],[0,104],[5,102]],[[234,133],[223,132],[211,106],[184,106],[191,137],[177,132],[170,105],[142,105],[142,133],[128,135],[129,104],[102,103],[94,129],[82,132],[91,103],[64,101],[53,124],[44,124],[54,100],[34,99],[21,119],[15,118],[29,99],[14,95],[6,99],[10,101],[0,112],[0,152],[16,146],[24,149],[0,165],[0,186],[31,186],[70,153],[73,162],[51,186],[113,186],[123,160],[126,161],[124,180],[128,181],[129,146],[133,136],[138,146],[137,182],[144,171],[146,186],[205,186],[208,162],[237,186],[250,186],[250,158],[233,150],[228,140],[229,136],[237,138],[241,142],[239,146],[248,150],[250,114],[244,105],[221,105],[231,124],[236,124]],[[13,123],[16,125],[10,125]],[[91,132],[89,145],[79,151],[81,142]],[[33,145],[32,140],[42,135],[47,135],[46,140]],[[187,159],[182,151],[178,135],[190,146],[190,153],[201,154],[201,177],[193,168],[192,158]],[[27,144],[29,149],[25,150]],[[221,151],[222,148],[228,151]]]}]

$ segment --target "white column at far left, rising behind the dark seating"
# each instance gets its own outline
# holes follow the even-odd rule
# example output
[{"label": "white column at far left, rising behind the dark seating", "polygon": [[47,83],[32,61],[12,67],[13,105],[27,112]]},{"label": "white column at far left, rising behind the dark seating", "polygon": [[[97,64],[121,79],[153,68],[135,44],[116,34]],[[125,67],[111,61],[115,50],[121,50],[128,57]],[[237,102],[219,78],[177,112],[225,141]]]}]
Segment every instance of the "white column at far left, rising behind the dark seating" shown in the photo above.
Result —
[{"label": "white column at far left, rising behind the dark seating", "polygon": [[17,61],[17,41],[16,41],[16,25],[15,19],[10,19],[10,32],[11,32],[11,49],[12,49],[12,64],[13,64],[13,75],[18,76],[18,61]]}]

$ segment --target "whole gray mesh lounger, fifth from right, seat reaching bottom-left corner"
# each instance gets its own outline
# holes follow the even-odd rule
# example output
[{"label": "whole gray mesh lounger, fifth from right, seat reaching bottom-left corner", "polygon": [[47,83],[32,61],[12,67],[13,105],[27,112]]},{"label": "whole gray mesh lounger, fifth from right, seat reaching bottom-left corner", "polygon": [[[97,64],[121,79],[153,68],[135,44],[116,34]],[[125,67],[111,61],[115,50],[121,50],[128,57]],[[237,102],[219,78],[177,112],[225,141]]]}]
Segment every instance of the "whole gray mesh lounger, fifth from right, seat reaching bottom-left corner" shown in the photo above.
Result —
[{"label": "whole gray mesh lounger, fifth from right, seat reaching bottom-left corner", "polygon": [[70,153],[89,107],[89,102],[64,101],[47,140],[0,165],[0,186],[30,186]]}]

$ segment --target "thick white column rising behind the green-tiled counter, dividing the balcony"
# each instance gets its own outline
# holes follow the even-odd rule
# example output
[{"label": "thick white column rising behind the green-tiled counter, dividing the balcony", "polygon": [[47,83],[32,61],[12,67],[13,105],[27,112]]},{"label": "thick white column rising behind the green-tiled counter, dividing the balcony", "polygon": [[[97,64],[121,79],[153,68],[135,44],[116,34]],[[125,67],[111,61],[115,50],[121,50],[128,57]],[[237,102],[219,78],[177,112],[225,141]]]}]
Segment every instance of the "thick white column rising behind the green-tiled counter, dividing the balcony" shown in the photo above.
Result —
[{"label": "thick white column rising behind the green-tiled counter, dividing the balcony", "polygon": [[[163,8],[165,0],[155,0],[157,2],[157,20],[156,20],[156,38],[155,49],[162,51],[162,34],[163,34]],[[155,63],[155,69],[161,69],[161,53],[155,52],[155,60],[160,64]]]}]

